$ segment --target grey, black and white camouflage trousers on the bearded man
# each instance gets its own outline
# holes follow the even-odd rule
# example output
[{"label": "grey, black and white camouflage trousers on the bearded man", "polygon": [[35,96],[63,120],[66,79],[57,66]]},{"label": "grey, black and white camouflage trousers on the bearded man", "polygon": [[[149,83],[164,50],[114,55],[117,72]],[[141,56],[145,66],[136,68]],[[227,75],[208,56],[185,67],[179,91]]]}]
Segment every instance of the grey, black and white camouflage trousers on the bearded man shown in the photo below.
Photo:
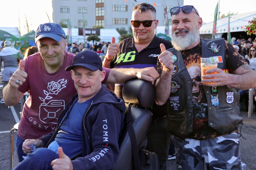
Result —
[{"label": "grey, black and white camouflage trousers on the bearded man", "polygon": [[245,170],[237,133],[205,140],[172,138],[177,170]]}]

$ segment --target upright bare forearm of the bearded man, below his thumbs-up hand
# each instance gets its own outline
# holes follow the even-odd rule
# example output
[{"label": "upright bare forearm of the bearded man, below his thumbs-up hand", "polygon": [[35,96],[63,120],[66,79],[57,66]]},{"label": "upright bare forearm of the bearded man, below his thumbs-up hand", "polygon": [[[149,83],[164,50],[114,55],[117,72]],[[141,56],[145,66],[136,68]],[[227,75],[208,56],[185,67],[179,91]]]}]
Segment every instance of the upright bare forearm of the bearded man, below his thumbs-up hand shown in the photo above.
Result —
[{"label": "upright bare forearm of the bearded man, below his thumbs-up hand", "polygon": [[168,100],[171,92],[171,73],[172,71],[163,70],[155,84],[155,102],[158,105],[163,105]]}]

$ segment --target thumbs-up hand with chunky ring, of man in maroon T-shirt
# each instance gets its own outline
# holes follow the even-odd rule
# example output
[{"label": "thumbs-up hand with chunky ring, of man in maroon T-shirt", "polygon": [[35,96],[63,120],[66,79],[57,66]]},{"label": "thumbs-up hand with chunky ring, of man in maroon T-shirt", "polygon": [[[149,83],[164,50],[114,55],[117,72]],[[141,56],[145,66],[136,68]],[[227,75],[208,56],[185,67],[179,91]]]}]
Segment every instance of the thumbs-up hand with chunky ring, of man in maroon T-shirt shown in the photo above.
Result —
[{"label": "thumbs-up hand with chunky ring, of man in maroon T-shirt", "polygon": [[20,60],[19,61],[19,68],[13,73],[9,84],[11,87],[19,88],[27,78],[27,73],[25,72],[25,61]]}]

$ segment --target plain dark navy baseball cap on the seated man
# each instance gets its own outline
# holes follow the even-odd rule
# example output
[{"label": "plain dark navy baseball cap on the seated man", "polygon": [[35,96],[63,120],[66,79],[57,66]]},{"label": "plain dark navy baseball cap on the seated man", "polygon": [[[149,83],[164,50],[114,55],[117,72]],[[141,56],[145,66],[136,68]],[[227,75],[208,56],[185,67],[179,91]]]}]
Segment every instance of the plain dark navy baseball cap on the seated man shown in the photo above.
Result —
[{"label": "plain dark navy baseball cap on the seated man", "polygon": [[75,66],[85,67],[91,71],[102,71],[102,60],[94,51],[84,50],[75,55],[71,66],[66,68],[66,71],[72,70]]}]

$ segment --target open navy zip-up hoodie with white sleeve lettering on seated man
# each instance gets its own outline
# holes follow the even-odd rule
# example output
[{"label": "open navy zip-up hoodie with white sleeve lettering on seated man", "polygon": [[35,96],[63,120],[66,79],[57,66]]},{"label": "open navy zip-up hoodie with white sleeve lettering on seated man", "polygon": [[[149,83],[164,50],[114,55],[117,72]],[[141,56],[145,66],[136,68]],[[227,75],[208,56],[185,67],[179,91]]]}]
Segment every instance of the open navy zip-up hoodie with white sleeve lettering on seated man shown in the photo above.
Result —
[{"label": "open navy zip-up hoodie with white sleeve lettering on seated man", "polygon": [[[54,132],[42,136],[45,147],[54,141],[61,126],[65,113],[73,106],[77,94],[73,96],[65,110],[58,119]],[[94,96],[88,109],[85,111],[82,121],[82,157],[72,160],[73,168],[78,169],[112,169],[119,154],[118,140],[121,137],[125,103],[104,84],[101,90]],[[79,154],[78,154],[79,155]],[[81,155],[81,154],[80,154]]]}]

